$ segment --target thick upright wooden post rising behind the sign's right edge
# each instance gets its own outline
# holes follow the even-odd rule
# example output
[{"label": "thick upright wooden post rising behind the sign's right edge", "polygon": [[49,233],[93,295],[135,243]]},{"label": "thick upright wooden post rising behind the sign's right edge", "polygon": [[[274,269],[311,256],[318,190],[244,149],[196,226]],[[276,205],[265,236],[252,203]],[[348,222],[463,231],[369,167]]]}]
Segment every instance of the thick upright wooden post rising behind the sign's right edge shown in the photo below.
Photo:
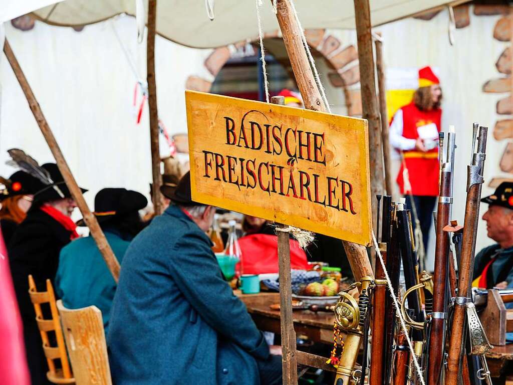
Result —
[{"label": "thick upright wooden post rising behind the sign's right edge", "polygon": [[[363,119],[369,122],[370,196],[383,194],[383,152],[381,150],[381,127],[374,82],[374,56],[370,24],[369,0],[354,0],[354,18],[358,38],[358,60],[360,62],[360,87]],[[372,227],[376,225],[376,199],[372,202]]]}]

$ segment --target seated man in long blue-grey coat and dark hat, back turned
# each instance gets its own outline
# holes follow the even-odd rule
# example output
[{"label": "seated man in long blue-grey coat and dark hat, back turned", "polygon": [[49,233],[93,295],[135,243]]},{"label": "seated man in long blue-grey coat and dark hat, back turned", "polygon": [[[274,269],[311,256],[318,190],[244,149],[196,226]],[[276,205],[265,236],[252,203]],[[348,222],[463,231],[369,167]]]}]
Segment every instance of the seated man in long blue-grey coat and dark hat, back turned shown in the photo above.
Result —
[{"label": "seated man in long blue-grey coat and dark hat, back turned", "polygon": [[187,172],[172,205],[128,247],[107,336],[117,385],[281,383],[281,357],[211,251],[214,213],[192,201]]}]

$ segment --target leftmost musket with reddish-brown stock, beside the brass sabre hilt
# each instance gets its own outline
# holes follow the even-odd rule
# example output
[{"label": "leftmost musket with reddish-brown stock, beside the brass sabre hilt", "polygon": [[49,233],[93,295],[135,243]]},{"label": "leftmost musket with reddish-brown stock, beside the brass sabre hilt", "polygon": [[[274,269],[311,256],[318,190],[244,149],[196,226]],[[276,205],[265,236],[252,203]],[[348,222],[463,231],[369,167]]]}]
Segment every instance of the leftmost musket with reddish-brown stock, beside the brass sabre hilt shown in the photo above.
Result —
[{"label": "leftmost musket with reddish-brown stock, beside the brass sabre hilt", "polygon": [[[390,204],[391,197],[383,197],[383,227],[390,227]],[[379,204],[378,204],[378,213],[379,213]],[[379,214],[378,214],[379,218]],[[379,224],[377,226],[379,232]],[[386,240],[389,236],[390,230],[388,229],[387,234],[382,232],[382,235]],[[378,233],[379,234],[379,233]],[[379,241],[379,239],[378,239]],[[387,263],[387,244],[386,242],[380,242],[379,250],[381,256],[383,257],[383,261],[385,264]],[[372,317],[372,348],[370,351],[370,385],[381,385],[383,384],[383,375],[384,375],[384,359],[383,352],[385,348],[385,317],[386,314],[386,280],[385,280],[385,272],[383,270],[383,266],[381,263],[376,260],[376,269],[374,273],[374,283],[376,286],[374,287],[374,291],[372,293],[372,309],[373,309],[373,317]]]}]

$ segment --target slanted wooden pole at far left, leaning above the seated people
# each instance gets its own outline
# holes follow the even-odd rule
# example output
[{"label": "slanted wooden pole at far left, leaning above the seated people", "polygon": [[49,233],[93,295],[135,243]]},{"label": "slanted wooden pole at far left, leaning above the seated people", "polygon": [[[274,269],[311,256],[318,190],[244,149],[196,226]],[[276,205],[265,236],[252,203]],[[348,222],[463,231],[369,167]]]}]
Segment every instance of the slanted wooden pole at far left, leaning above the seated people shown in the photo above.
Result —
[{"label": "slanted wooden pole at far left, leaning above the seated people", "polygon": [[53,133],[48,126],[48,122],[43,115],[43,111],[41,110],[39,103],[37,103],[35,95],[32,92],[27,78],[25,78],[25,74],[23,73],[22,68],[19,66],[16,56],[14,56],[14,52],[12,52],[11,46],[9,45],[7,39],[4,43],[4,53],[7,56],[7,60],[9,61],[14,74],[16,75],[16,79],[18,80],[19,85],[22,87],[23,93],[25,94],[25,98],[27,98],[27,102],[29,103],[30,110],[34,114],[37,125],[41,129],[41,132],[43,133],[43,136],[48,143],[48,147],[50,147],[50,151],[52,151],[55,162],[57,163],[64,181],[66,182],[66,185],[71,192],[71,196],[75,200],[78,209],[80,209],[82,216],[84,217],[84,221],[86,222],[87,227],[89,227],[91,236],[96,242],[98,249],[100,249],[100,253],[102,253],[103,259],[107,263],[107,267],[109,268],[110,273],[114,277],[114,280],[117,282],[120,276],[120,264],[117,262],[117,259],[114,256],[114,253],[112,252],[112,249],[110,248],[110,245],[107,242],[105,234],[103,234],[100,225],[98,225],[96,217],[91,213],[89,207],[87,207],[87,203],[84,199],[84,196],[82,195],[82,190],[80,187],[78,187],[73,174],[71,174],[71,170],[69,169],[66,159],[64,159],[61,148],[57,144],[57,141],[55,140],[55,137],[53,136]]}]

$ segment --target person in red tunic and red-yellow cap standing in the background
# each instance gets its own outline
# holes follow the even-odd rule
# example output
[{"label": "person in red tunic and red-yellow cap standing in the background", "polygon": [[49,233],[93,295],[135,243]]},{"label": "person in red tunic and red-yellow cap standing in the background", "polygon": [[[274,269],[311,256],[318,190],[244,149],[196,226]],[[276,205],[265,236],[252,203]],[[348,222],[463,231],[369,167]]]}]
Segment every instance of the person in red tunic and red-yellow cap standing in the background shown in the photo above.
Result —
[{"label": "person in red tunic and red-yellow cap standing in the background", "polygon": [[413,94],[412,102],[400,108],[390,123],[390,144],[403,155],[397,183],[401,194],[406,196],[408,208],[411,209],[413,203],[416,206],[425,249],[439,193],[441,102],[439,79],[430,67],[421,68],[419,88]]}]

